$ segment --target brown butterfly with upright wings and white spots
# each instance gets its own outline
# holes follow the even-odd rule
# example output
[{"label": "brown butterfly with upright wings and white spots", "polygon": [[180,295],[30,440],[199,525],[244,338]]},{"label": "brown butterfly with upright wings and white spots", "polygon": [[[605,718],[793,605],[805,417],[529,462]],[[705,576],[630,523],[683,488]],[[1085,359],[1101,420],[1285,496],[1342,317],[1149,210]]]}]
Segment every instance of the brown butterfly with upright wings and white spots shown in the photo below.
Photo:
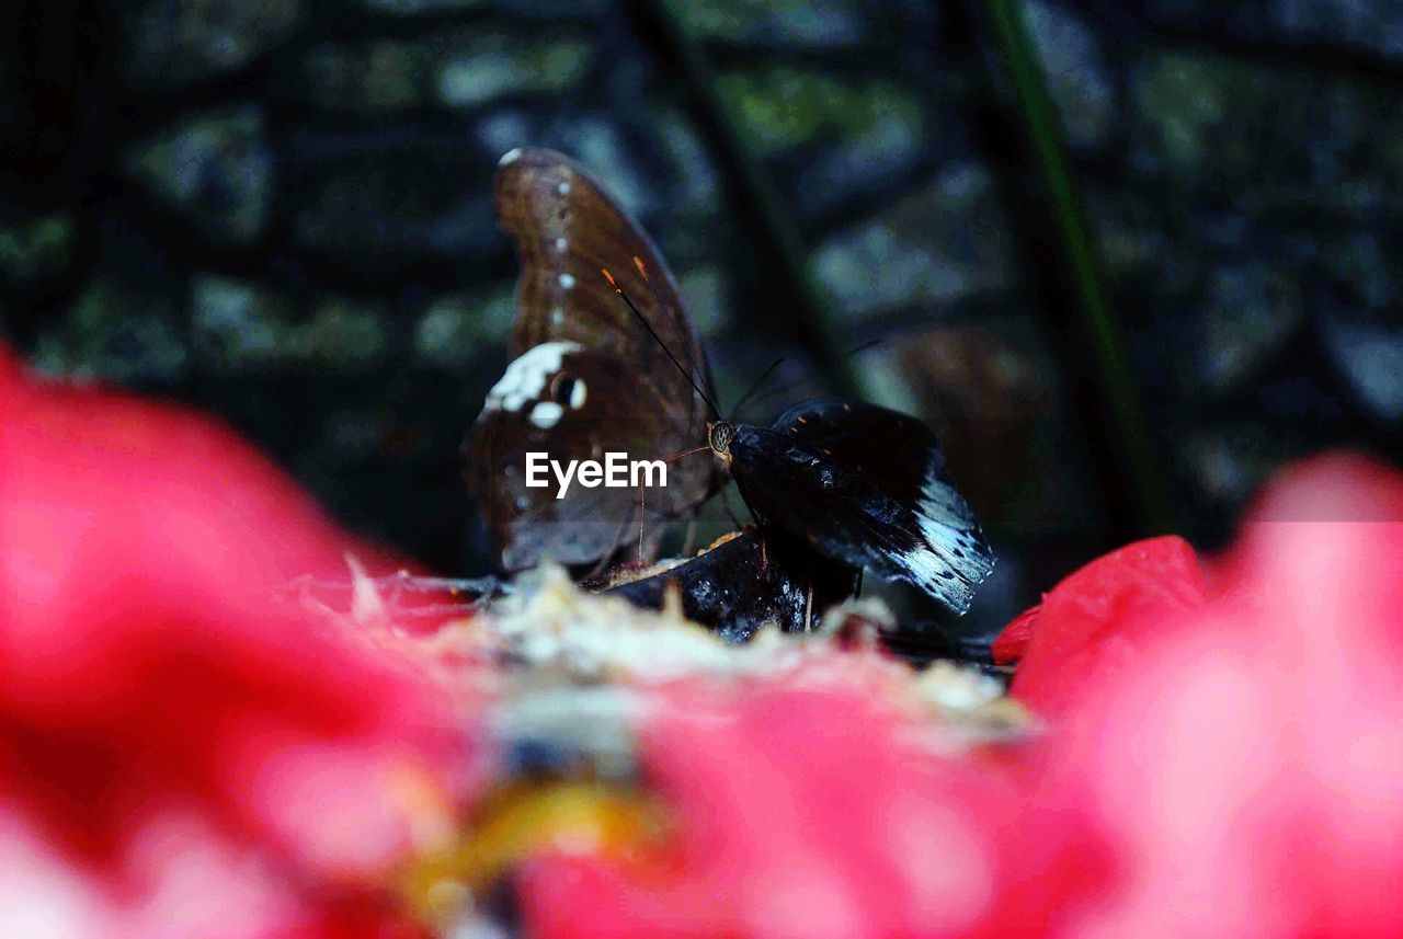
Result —
[{"label": "brown butterfly with upright wings and white spots", "polygon": [[[554,486],[528,486],[526,454],[658,460],[697,446],[716,395],[676,282],[648,235],[568,157],[512,150],[498,164],[494,202],[521,261],[512,362],[463,457],[499,563],[586,565],[636,542],[651,556],[664,523],[724,484],[721,464],[669,462],[668,485],[640,505],[629,488],[572,486],[557,499]],[[637,299],[641,322],[605,269]]]}]

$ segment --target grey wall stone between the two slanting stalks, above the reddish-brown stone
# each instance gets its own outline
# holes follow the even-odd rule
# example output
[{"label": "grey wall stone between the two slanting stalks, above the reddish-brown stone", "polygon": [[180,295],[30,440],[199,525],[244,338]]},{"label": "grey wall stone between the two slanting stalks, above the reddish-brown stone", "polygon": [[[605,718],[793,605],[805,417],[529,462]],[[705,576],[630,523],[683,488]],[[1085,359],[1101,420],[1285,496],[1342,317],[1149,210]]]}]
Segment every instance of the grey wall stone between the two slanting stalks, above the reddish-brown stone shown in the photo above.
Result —
[{"label": "grey wall stone between the two slanting stalks, above the reddish-brown stone", "polygon": [[1012,289],[1013,245],[993,178],[974,164],[947,167],[925,189],[829,237],[814,269],[856,321]]}]

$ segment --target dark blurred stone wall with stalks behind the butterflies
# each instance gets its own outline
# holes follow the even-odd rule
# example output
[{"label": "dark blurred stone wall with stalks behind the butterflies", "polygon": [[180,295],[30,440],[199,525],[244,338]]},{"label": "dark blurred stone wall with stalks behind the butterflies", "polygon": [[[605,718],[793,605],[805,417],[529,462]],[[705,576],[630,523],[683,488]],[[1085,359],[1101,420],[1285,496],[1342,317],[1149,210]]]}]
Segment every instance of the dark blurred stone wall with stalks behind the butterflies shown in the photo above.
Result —
[{"label": "dark blurred stone wall with stalks behind the butterflies", "polygon": [[659,240],[723,401],[781,349],[753,419],[932,420],[1000,554],[976,622],[1132,537],[1221,544],[1284,461],[1400,455],[1393,0],[0,8],[4,336],[223,415],[449,573],[485,563],[456,453],[523,144]]}]

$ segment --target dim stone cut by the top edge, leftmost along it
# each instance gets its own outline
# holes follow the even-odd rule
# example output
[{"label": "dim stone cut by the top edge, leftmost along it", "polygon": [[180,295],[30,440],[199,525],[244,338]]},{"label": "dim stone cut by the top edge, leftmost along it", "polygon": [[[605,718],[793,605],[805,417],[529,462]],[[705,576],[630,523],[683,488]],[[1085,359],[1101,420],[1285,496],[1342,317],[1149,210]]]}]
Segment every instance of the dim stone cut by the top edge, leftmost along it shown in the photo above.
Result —
[{"label": "dim stone cut by the top edge, leftmost along it", "polygon": [[128,74],[182,84],[243,69],[286,41],[299,0],[149,0],[126,18]]}]

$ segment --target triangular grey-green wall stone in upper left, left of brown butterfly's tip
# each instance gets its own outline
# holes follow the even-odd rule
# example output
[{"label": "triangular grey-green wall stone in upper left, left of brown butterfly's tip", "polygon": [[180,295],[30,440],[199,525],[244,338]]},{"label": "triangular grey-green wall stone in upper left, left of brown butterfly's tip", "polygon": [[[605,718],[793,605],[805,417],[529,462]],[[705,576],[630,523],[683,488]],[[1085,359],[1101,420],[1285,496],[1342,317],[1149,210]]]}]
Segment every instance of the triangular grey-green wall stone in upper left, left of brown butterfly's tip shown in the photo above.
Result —
[{"label": "triangular grey-green wall stone in upper left, left of brown butterfly's tip", "polygon": [[192,118],[136,149],[128,171],[216,241],[247,244],[268,223],[274,154],[262,112],[240,107]]}]

